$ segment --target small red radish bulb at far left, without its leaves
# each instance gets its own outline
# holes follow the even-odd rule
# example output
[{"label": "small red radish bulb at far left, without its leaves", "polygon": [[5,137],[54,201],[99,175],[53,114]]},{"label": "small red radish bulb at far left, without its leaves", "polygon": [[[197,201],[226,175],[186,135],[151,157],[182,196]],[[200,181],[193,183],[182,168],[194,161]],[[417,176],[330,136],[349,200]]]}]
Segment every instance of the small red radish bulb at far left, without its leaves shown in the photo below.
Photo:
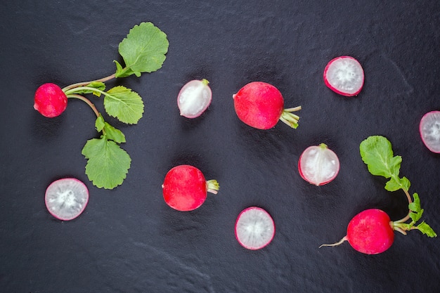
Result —
[{"label": "small red radish bulb at far left, without its leaves", "polygon": [[57,117],[65,108],[67,108],[67,96],[56,84],[42,84],[35,91],[34,109],[44,117]]}]

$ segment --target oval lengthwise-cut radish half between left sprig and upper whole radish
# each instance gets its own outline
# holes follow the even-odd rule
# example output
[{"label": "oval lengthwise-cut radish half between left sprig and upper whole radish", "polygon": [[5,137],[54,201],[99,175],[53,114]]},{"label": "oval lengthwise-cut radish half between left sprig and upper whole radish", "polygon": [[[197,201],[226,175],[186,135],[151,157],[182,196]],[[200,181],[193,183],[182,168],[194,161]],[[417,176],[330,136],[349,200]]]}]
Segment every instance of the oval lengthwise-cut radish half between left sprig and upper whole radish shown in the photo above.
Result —
[{"label": "oval lengthwise-cut radish half between left sprig and upper whole radish", "polygon": [[195,118],[202,115],[212,100],[212,91],[206,79],[192,80],[185,84],[177,96],[180,115]]}]

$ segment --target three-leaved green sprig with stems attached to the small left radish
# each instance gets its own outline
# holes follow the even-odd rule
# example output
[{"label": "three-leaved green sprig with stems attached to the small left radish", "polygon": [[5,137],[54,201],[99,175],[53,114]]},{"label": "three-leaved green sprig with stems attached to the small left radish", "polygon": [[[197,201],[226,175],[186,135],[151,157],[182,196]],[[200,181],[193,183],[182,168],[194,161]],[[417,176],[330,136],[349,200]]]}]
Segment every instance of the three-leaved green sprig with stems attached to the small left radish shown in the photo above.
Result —
[{"label": "three-leaved green sprig with stems attached to the small left radish", "polygon": [[96,114],[96,131],[99,138],[86,142],[82,155],[86,157],[86,175],[98,188],[112,189],[122,184],[127,177],[131,164],[129,154],[119,147],[125,143],[125,136],[119,129],[105,122],[103,115],[96,109],[86,94],[103,96],[105,112],[125,124],[137,124],[143,116],[143,100],[135,91],[125,86],[115,86],[105,91],[105,82],[111,79],[129,77],[134,74],[141,77],[143,72],[155,72],[162,67],[168,51],[167,35],[151,22],[135,25],[121,43],[119,54],[124,66],[116,60],[116,72],[108,77],[91,82],[79,82],[66,86],[63,91],[67,98],[84,101]]}]

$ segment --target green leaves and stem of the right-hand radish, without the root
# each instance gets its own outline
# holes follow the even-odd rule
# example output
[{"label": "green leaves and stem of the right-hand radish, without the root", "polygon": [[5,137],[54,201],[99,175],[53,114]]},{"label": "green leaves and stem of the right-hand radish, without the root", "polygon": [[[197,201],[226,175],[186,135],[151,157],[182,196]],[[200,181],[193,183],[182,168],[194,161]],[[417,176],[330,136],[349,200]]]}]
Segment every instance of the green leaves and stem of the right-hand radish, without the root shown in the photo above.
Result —
[{"label": "green leaves and stem of the right-hand radish, without the root", "polygon": [[408,198],[408,214],[403,219],[393,222],[394,230],[404,235],[408,230],[419,230],[428,237],[436,237],[434,230],[425,221],[418,223],[423,214],[420,197],[417,193],[413,193],[413,197],[410,196],[410,181],[406,177],[399,176],[402,157],[394,156],[392,144],[388,139],[384,136],[370,136],[362,141],[359,149],[368,171],[375,176],[389,179],[385,184],[385,189],[388,191],[403,190]]}]

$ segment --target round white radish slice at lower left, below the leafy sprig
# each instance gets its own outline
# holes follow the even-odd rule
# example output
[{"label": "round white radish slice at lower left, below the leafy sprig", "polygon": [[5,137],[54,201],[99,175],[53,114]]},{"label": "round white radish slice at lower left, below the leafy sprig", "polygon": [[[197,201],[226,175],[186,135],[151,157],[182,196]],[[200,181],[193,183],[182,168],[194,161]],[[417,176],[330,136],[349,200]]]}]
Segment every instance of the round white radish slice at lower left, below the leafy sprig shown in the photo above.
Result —
[{"label": "round white radish slice at lower left, below the leafy sprig", "polygon": [[75,178],[53,181],[46,189],[46,208],[56,219],[69,221],[82,214],[89,202],[89,190]]}]

